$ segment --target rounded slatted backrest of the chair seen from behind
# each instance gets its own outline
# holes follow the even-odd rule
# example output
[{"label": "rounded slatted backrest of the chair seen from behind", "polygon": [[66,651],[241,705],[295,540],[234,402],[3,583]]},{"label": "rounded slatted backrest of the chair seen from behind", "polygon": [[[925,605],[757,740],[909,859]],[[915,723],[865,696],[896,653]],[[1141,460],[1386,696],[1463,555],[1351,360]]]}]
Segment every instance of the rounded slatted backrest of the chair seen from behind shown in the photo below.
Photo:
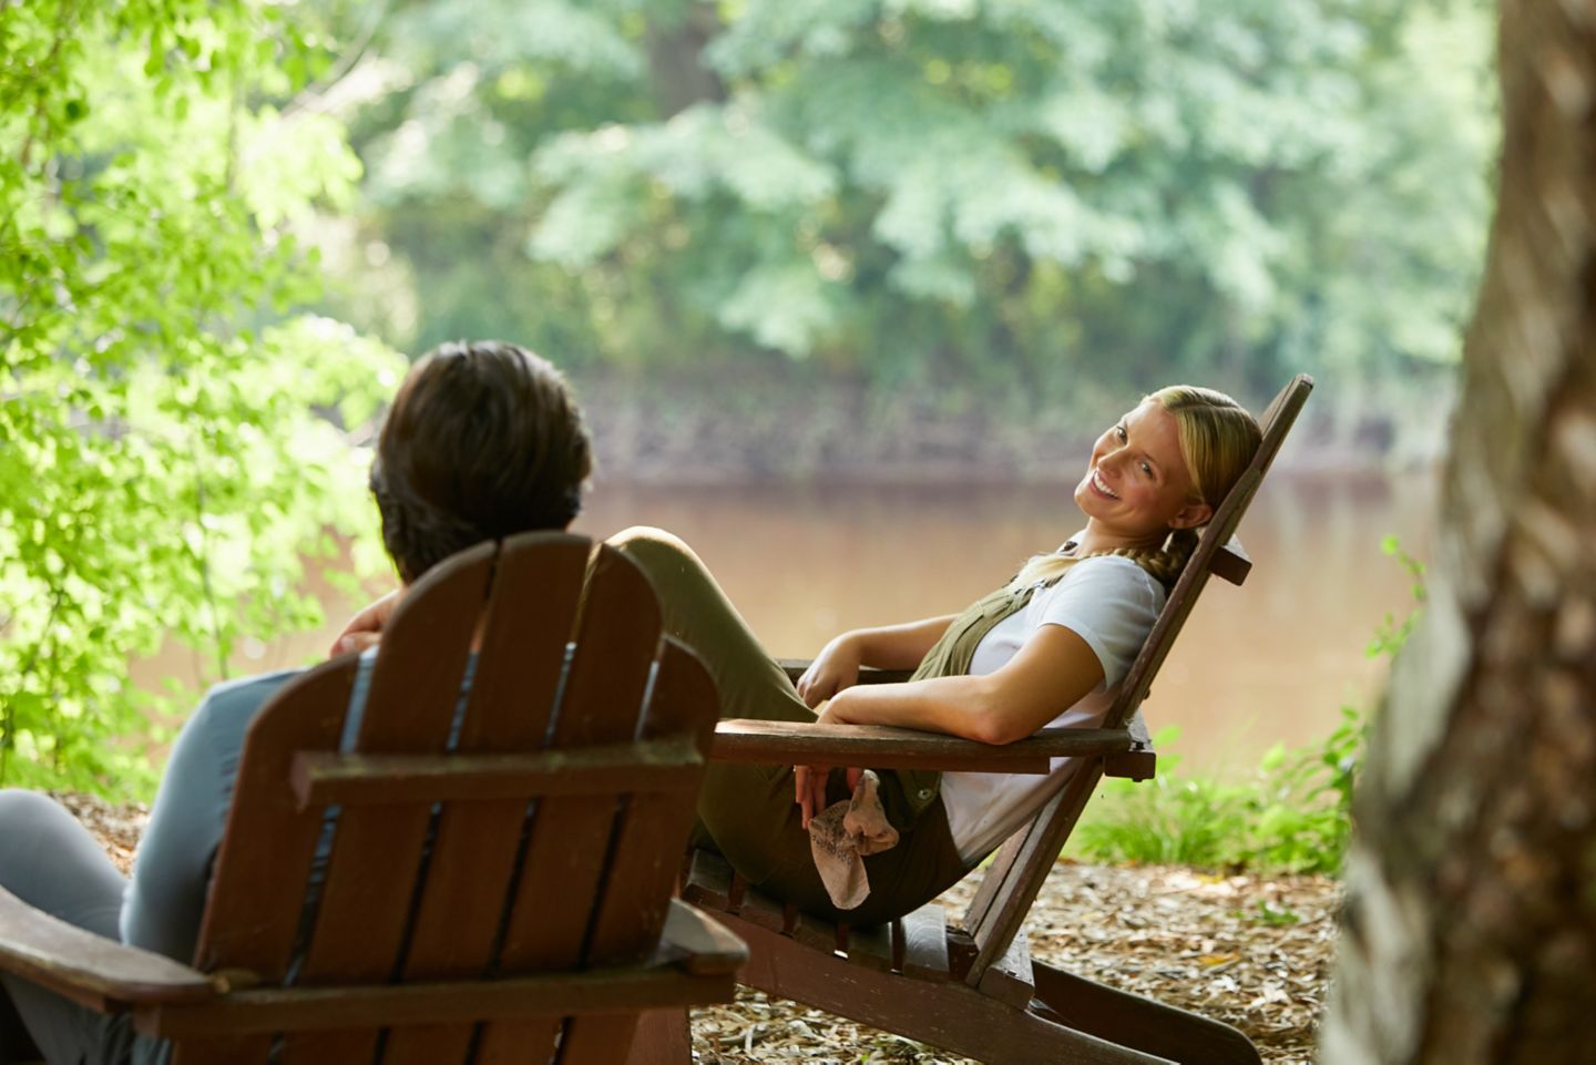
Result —
[{"label": "rounded slatted backrest of the chair seen from behind", "polygon": [[[337,988],[654,950],[717,706],[632,562],[528,533],[440,564],[391,620],[340,750],[356,671],[303,674],[252,725],[196,968]],[[630,1031],[624,1016],[289,1031],[222,1060],[544,1060],[557,1043],[563,1062],[610,1060]]]}]

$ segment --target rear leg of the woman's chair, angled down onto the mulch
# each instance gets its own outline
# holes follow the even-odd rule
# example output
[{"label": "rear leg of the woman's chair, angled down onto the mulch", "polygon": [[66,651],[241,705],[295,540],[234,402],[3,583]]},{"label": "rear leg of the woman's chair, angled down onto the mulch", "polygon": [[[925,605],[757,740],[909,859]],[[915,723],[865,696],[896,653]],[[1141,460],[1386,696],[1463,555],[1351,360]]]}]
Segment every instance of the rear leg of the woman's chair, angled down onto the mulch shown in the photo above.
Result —
[{"label": "rear leg of the woman's chair, angled down onto the mulch", "polygon": [[1253,1041],[1219,1020],[1117,992],[1033,960],[1031,1012],[1100,1039],[1167,1057],[1181,1065],[1258,1065]]}]

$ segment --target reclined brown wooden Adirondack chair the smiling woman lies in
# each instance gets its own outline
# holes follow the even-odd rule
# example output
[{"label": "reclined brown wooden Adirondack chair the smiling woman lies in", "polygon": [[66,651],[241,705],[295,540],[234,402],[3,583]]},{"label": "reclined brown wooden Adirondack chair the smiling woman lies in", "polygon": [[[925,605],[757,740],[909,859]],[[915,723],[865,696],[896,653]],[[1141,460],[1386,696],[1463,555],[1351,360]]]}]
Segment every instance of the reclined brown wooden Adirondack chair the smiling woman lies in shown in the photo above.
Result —
[{"label": "reclined brown wooden Adirondack chair the smiling woman lies in", "polygon": [[[891,926],[833,926],[763,897],[723,859],[696,853],[683,897],[747,939],[753,956],[742,982],[983,1062],[1259,1060],[1229,1025],[1033,961],[1025,918],[1098,779],[1152,776],[1154,754],[1136,709],[1208,575],[1235,584],[1246,578],[1251,562],[1232,533],[1312,386],[1312,378],[1298,377],[1270,404],[1258,457],[1210,522],[1101,728],[1047,728],[990,747],[897,728],[720,723],[713,757],[739,762],[1045,773],[1050,757],[1082,758],[1063,790],[993,859],[962,928],[948,928],[938,904]],[[795,679],[804,666],[784,664]],[[881,672],[867,680],[905,677]],[[640,1041],[632,1060],[686,1060],[683,1025],[680,1012],[651,1014],[648,1046]]]}]

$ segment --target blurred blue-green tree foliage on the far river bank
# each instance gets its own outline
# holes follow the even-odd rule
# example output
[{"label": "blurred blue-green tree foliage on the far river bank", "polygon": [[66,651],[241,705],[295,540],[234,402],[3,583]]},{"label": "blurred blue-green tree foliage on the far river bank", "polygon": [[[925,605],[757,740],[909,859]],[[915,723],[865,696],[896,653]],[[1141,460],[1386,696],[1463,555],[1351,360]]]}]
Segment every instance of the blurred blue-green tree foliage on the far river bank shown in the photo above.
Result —
[{"label": "blurred blue-green tree foliage on the far river bank", "polygon": [[340,307],[407,281],[413,315],[367,318],[401,343],[806,359],[1052,410],[1306,369],[1349,418],[1456,359],[1479,5],[519,6],[410,5],[351,78],[358,240],[409,273],[356,259]]}]

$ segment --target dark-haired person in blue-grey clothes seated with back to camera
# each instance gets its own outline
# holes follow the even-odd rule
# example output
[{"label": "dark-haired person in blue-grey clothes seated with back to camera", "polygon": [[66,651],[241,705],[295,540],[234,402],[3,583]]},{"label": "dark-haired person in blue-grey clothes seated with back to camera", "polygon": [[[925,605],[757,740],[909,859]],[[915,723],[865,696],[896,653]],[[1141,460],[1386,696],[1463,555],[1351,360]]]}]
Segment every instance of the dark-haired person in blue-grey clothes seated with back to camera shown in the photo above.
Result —
[{"label": "dark-haired person in blue-grey clothes seated with back to camera", "polygon": [[[591,445],[563,377],[509,343],[445,343],[410,370],[372,461],[383,544],[409,586],[484,540],[560,530],[581,508]],[[0,790],[0,888],[109,939],[187,963],[255,714],[297,671],[219,685],[184,725],[123,880],[99,843],[46,795]],[[345,736],[365,699],[370,658]],[[156,1062],[128,1017],[107,1017],[0,977],[0,1062]]]}]

